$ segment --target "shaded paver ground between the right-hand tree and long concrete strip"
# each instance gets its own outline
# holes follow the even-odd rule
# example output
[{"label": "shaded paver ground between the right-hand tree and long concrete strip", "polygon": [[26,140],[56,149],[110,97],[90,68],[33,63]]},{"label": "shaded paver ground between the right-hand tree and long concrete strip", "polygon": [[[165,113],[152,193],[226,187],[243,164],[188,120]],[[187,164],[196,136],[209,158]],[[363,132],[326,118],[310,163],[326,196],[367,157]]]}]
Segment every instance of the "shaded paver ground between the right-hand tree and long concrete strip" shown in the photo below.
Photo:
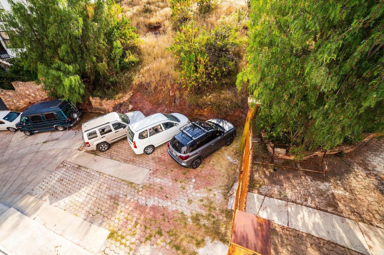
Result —
[{"label": "shaded paver ground between the right-hand tree and long concrete strip", "polygon": [[384,228],[384,139],[327,159],[325,177],[255,164],[250,191]]}]

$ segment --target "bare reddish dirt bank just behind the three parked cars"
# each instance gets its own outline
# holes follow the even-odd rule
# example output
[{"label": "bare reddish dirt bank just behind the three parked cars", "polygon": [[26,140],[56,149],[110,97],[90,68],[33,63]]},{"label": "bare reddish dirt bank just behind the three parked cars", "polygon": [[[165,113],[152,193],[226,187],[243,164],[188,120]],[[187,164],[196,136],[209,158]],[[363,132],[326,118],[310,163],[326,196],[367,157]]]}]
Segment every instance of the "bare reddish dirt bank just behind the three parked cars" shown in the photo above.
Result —
[{"label": "bare reddish dirt bank just behind the three parked cars", "polygon": [[[129,110],[129,105],[133,108]],[[154,113],[181,113],[187,116],[189,119],[207,120],[212,118],[223,118],[235,124],[235,126],[242,126],[247,116],[247,102],[244,100],[242,108],[238,108],[232,111],[223,109],[222,112],[216,112],[210,109],[201,109],[196,106],[192,106],[181,99],[179,104],[171,102],[157,103],[155,99],[149,99],[142,93],[134,92],[129,102],[124,102],[113,107],[113,111],[120,113],[126,113],[129,111],[141,111],[144,115],[149,116]]]}]

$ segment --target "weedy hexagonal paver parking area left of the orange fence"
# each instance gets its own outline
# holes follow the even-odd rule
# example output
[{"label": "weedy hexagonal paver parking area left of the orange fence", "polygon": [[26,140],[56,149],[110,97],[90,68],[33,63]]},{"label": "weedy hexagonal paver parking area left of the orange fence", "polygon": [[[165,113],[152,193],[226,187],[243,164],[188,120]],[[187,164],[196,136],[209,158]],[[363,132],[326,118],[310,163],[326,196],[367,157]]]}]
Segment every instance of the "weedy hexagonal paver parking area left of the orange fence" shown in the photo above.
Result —
[{"label": "weedy hexagonal paver parking area left of the orange fence", "polygon": [[227,193],[237,179],[236,144],[197,169],[177,165],[166,144],[151,155],[136,155],[122,140],[98,154],[151,170],[136,185],[63,162],[31,194],[111,230],[101,253],[194,253],[207,236],[228,243],[233,212]]}]

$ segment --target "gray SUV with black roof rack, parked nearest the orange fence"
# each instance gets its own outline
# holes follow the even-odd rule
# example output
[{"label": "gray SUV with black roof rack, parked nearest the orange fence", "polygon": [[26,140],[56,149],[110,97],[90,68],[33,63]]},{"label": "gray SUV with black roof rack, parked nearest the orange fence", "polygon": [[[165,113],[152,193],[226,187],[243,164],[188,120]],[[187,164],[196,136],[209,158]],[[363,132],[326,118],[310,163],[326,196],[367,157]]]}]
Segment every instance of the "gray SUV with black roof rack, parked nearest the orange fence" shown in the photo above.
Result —
[{"label": "gray SUV with black roof rack, parked nearest the orange fence", "polygon": [[232,144],[235,136],[235,127],[224,119],[192,121],[167,143],[168,154],[182,167],[197,168],[209,154]]}]

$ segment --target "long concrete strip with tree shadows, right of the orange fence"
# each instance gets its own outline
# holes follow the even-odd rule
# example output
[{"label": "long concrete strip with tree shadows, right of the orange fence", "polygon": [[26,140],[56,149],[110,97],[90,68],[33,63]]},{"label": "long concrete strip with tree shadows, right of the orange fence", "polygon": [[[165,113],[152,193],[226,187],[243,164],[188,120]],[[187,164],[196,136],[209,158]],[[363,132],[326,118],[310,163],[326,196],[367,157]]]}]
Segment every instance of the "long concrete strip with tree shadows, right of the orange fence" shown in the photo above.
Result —
[{"label": "long concrete strip with tree shadows, right of the orange fence", "polygon": [[249,192],[246,211],[363,254],[384,254],[384,230],[378,227]]}]

